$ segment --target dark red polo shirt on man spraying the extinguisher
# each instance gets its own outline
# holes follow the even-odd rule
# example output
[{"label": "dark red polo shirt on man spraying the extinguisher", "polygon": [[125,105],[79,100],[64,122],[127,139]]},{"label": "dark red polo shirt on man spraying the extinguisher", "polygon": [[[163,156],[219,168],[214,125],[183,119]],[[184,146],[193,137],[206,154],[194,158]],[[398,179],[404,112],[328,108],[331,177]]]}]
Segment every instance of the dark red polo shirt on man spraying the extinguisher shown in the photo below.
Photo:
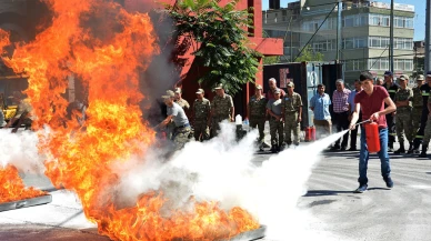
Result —
[{"label": "dark red polo shirt on man spraying the extinguisher", "polygon": [[[361,104],[362,120],[370,119],[371,114],[384,110],[384,99],[389,97],[388,91],[383,87],[374,86],[371,96],[365,91],[359,92],[354,97],[354,103]],[[379,128],[387,128],[387,117],[381,114],[377,121]]]}]

